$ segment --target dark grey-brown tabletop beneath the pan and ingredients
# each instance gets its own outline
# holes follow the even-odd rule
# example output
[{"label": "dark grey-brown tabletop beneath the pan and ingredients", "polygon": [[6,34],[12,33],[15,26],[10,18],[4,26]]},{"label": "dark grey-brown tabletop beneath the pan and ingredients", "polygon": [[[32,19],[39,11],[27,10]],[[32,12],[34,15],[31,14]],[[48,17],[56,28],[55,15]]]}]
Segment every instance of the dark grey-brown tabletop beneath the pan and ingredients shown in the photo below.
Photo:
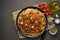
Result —
[{"label": "dark grey-brown tabletop beneath the pan and ingredients", "polygon": [[[40,2],[48,3],[49,0],[0,0],[0,40],[18,40],[12,12]],[[45,40],[60,40],[60,24],[56,27],[58,29],[57,35],[51,36],[48,32]]]}]

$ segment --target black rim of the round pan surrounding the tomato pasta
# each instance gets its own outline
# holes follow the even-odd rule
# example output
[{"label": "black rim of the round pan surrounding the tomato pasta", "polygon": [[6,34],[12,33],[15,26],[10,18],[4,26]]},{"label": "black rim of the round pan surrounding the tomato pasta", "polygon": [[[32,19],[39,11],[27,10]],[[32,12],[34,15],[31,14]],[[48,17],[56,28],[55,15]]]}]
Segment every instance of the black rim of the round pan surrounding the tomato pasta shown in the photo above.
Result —
[{"label": "black rim of the round pan surrounding the tomato pasta", "polygon": [[[29,7],[23,8],[23,9],[19,12],[19,14],[17,15],[17,18],[16,18],[17,28],[18,28],[18,17],[19,17],[19,15],[20,15],[20,13],[21,13],[22,11],[28,9],[28,8],[38,9],[39,11],[41,11],[42,13],[44,13],[40,8],[35,7],[35,6],[29,6]],[[44,15],[45,15],[45,14],[44,14]],[[45,26],[45,29],[46,29],[46,27],[47,27],[47,17],[46,17],[46,15],[45,15],[45,19],[46,19],[46,26]],[[39,35],[37,35],[37,36],[31,36],[31,35],[25,35],[20,28],[18,28],[18,29],[20,30],[20,32],[21,32],[24,36],[30,37],[30,38],[38,37],[39,35],[42,35],[43,32],[45,31],[45,29],[44,29]]]}]

